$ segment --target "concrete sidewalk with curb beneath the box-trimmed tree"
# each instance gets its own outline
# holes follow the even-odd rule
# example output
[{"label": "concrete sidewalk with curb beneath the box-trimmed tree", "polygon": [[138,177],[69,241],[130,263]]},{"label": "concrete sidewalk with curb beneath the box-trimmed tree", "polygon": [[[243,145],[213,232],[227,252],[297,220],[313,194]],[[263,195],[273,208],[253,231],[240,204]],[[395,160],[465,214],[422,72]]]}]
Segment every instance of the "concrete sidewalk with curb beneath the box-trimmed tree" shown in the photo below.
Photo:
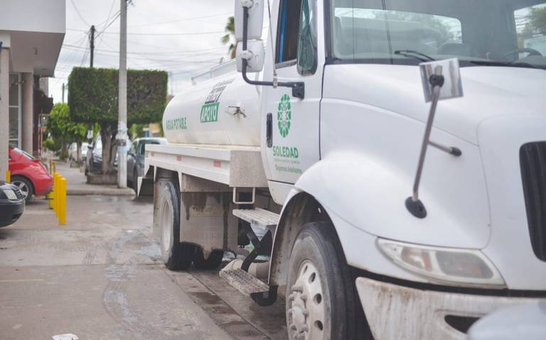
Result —
[{"label": "concrete sidewalk with curb beneath the box-trimmed tree", "polygon": [[83,170],[70,168],[70,163],[55,160],[57,172],[66,178],[66,194],[68,196],[134,196],[134,191],[129,188],[119,189],[115,185],[92,185],[87,184]]}]

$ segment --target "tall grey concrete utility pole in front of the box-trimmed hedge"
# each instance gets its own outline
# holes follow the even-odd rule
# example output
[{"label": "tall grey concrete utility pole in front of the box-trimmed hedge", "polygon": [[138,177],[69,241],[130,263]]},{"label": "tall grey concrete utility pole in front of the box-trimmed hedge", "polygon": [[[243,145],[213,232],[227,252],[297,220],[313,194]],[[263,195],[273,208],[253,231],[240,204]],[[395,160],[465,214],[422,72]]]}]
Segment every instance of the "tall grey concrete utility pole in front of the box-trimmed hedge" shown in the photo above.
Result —
[{"label": "tall grey concrete utility pole in front of the box-trimmed hedge", "polygon": [[120,0],[117,186],[127,187],[127,0]]}]

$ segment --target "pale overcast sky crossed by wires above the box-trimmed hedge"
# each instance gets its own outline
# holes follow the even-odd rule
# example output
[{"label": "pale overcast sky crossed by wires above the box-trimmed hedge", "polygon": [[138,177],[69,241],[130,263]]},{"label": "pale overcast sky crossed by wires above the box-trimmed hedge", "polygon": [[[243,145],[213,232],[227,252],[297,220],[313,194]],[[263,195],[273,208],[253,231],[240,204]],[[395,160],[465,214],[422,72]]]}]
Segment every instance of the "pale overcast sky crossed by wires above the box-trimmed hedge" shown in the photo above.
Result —
[{"label": "pale overcast sky crossed by wires above the box-trimmed hedge", "polygon": [[[132,0],[127,9],[127,66],[169,72],[169,92],[177,94],[191,75],[229,59],[220,39],[234,0]],[[88,31],[95,25],[95,67],[119,67],[120,0],[66,0],[66,35],[55,78],[53,102],[73,67],[89,67]],[[110,24],[109,26],[107,26]],[[67,97],[65,97],[65,101]]]}]

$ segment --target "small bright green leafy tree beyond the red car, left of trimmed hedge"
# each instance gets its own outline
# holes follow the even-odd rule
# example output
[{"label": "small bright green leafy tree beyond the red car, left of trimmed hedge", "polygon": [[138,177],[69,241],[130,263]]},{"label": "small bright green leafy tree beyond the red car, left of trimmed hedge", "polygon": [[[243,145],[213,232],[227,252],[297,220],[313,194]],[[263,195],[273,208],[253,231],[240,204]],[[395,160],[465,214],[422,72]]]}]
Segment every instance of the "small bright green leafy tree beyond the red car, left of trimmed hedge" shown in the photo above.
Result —
[{"label": "small bright green leafy tree beyond the red car, left of trimmed hedge", "polygon": [[53,138],[60,140],[60,158],[62,160],[67,157],[67,143],[77,143],[77,163],[80,164],[80,146],[82,141],[85,141],[87,127],[85,124],[76,123],[70,118],[68,104],[58,103],[53,106],[49,114],[47,129]]}]

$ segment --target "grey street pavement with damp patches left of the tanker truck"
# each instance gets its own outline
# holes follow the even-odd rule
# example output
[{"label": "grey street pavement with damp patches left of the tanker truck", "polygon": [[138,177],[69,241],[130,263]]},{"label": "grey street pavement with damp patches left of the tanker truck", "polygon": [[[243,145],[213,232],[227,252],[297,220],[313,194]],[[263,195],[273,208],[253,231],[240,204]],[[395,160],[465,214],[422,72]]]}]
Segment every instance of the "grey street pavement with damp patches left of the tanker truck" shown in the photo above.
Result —
[{"label": "grey street pavement with damp patches left of the tanker truck", "polygon": [[171,272],[151,201],[69,196],[59,226],[37,200],[0,228],[0,339],[286,339],[284,301],[259,307],[217,271]]}]

